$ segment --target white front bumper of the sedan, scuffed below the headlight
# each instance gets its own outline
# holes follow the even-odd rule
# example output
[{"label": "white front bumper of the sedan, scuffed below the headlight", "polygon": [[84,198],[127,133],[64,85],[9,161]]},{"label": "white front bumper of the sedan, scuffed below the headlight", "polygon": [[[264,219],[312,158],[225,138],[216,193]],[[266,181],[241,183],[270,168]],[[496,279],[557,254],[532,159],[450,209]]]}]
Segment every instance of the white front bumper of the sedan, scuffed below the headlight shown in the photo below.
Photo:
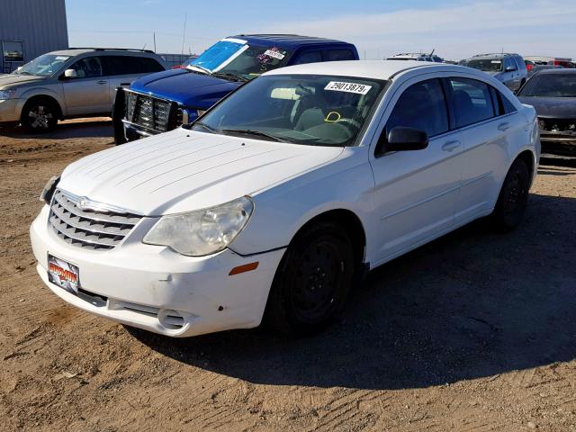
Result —
[{"label": "white front bumper of the sedan, scuffed below the headlight", "polygon": [[[225,249],[209,257],[184,257],[167,247],[129,241],[139,235],[138,226],[111,250],[85,250],[58,238],[48,217],[45,205],[30,234],[38,273],[53,293],[84,311],[171,337],[257,327],[284,255],[282,249],[241,257]],[[78,266],[79,295],[49,282],[48,254]],[[229,275],[255,261],[256,270]]]}]

